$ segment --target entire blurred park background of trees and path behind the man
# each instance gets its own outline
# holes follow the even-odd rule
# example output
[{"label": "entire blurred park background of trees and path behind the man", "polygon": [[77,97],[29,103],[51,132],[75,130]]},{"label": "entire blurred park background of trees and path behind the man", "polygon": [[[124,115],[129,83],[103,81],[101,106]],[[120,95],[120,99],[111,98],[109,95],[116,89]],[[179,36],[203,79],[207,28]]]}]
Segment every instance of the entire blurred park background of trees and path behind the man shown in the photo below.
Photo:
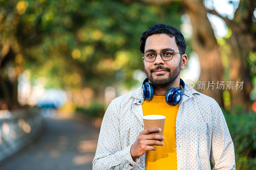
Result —
[{"label": "entire blurred park background of trees and path behind the man", "polygon": [[140,37],[157,23],[182,32],[181,78],[221,106],[236,168],[255,169],[256,1],[0,0],[1,169],[92,169],[108,104],[146,78]]}]

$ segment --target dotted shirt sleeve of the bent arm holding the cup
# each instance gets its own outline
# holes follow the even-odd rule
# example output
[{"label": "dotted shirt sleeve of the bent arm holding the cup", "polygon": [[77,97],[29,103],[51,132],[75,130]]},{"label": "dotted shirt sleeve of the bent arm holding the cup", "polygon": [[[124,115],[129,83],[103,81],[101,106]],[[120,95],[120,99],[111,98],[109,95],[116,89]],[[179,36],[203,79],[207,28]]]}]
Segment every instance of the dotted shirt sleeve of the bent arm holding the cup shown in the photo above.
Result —
[{"label": "dotted shirt sleeve of the bent arm holding the cup", "polygon": [[140,158],[132,160],[131,145],[121,148],[118,109],[114,100],[109,104],[100,128],[92,169],[127,169],[137,166]]}]

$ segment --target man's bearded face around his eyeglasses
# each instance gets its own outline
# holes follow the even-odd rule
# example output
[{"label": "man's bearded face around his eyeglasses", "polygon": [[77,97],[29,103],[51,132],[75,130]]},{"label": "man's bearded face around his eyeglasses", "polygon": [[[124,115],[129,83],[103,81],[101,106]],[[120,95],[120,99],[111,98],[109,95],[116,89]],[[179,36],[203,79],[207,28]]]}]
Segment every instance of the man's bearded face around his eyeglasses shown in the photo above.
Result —
[{"label": "man's bearded face around his eyeglasses", "polygon": [[[144,69],[148,80],[157,87],[166,87],[173,83],[180,75],[182,60],[180,53],[173,53],[173,57],[169,61],[164,61],[160,52],[165,49],[171,49],[175,52],[180,52],[175,37],[170,37],[165,34],[150,35],[145,43],[145,51],[154,51],[157,54],[155,61],[147,62],[144,57]],[[184,66],[185,67],[185,66]]]}]

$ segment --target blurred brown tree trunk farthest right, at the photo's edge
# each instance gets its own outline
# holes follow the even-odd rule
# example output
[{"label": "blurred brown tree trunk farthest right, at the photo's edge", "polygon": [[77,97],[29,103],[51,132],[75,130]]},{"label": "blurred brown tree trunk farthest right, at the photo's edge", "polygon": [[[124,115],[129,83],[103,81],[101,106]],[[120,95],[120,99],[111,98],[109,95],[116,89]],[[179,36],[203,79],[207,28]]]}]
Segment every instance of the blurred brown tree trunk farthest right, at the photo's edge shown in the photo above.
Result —
[{"label": "blurred brown tree trunk farthest right, at the photo's edge", "polygon": [[[251,108],[250,93],[252,90],[252,77],[248,56],[250,51],[256,51],[256,23],[252,20],[256,1],[241,0],[235,12],[234,19],[222,17],[216,11],[209,12],[222,18],[232,30],[232,35],[227,39],[231,52],[228,54],[229,80],[243,83],[242,89],[230,89],[231,107],[245,104],[245,109]],[[255,18],[254,18],[255,19]]]}]

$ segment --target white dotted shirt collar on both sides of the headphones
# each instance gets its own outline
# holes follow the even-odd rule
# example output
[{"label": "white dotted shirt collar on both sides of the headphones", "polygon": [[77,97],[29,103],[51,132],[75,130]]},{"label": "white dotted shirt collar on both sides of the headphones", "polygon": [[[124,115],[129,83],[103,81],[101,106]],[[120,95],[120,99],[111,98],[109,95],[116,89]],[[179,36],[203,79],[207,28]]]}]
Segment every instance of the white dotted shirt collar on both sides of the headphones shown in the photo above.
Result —
[{"label": "white dotted shirt collar on both sides of the headphones", "polygon": [[[137,104],[142,104],[144,99],[143,99],[143,95],[142,95],[142,85],[140,87],[138,87],[137,89],[135,89],[134,91],[134,94],[132,95],[132,97],[135,98],[134,103],[137,103]],[[195,89],[191,88],[190,86],[188,86],[186,83],[185,83],[185,92],[184,92],[184,95],[182,95],[181,97],[181,100],[180,100],[180,105],[186,101],[187,99],[193,97],[193,94],[194,93],[197,93],[200,95],[200,93],[198,91],[196,91]]]}]

